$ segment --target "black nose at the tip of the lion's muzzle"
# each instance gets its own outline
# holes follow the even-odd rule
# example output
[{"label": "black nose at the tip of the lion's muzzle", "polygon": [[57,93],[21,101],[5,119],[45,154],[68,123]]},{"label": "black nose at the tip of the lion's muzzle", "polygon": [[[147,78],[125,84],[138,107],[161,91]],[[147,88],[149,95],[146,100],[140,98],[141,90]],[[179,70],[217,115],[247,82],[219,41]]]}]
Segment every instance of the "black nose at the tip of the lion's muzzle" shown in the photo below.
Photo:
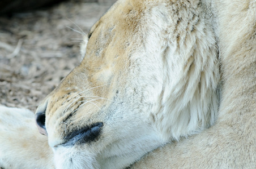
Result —
[{"label": "black nose at the tip of the lion's muzzle", "polygon": [[48,135],[45,127],[45,112],[47,108],[47,103],[40,105],[36,110],[36,126],[42,135]]}]

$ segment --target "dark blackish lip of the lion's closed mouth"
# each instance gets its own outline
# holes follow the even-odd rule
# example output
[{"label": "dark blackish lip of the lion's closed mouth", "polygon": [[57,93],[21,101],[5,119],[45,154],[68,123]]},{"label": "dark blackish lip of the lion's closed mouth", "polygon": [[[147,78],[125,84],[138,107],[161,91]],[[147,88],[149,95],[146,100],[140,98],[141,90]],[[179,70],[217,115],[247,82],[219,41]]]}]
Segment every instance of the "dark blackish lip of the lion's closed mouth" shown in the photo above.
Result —
[{"label": "dark blackish lip of the lion's closed mouth", "polygon": [[92,141],[95,141],[97,137],[99,137],[102,127],[103,123],[99,122],[94,123],[91,126],[75,130],[65,137],[65,143],[62,143],[61,145],[73,146],[76,143],[91,143]]}]

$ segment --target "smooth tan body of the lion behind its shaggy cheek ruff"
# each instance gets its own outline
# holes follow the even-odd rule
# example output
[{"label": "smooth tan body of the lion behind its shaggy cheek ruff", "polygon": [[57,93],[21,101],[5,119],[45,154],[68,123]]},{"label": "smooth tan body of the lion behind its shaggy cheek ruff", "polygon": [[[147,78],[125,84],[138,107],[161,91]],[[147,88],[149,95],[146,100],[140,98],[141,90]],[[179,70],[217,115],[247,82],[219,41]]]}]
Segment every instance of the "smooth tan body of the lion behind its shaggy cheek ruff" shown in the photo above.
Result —
[{"label": "smooth tan body of the lion behind its shaggy cheek ruff", "polygon": [[216,124],[131,168],[256,168],[256,1],[215,1],[223,81]]}]

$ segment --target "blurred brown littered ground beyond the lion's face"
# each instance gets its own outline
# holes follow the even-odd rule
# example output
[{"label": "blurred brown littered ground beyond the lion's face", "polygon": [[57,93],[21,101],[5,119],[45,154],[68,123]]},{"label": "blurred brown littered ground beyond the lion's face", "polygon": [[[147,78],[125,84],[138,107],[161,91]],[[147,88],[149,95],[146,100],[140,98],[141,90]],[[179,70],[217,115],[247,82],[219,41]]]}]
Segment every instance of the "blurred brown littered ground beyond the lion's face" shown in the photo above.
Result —
[{"label": "blurred brown littered ground beyond the lion's face", "polygon": [[0,104],[35,112],[79,64],[82,35],[70,28],[80,31],[79,26],[88,33],[114,2],[71,0],[44,10],[0,16]]}]

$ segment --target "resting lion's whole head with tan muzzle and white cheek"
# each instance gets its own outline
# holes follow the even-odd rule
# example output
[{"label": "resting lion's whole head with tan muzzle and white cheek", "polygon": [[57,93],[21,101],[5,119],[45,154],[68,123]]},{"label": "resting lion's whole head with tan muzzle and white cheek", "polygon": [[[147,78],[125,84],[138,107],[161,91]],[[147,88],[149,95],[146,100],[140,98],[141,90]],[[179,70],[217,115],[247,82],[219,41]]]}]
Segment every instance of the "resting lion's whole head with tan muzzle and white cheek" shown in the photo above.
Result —
[{"label": "resting lion's whole head with tan muzzle and white cheek", "polygon": [[170,25],[177,21],[169,18],[167,5],[173,4],[118,1],[93,25],[82,45],[82,63],[37,109],[57,168],[126,167],[213,122],[215,40],[210,32],[203,59],[189,46],[196,44],[197,33],[185,52],[177,52],[183,43],[172,40],[176,29]]}]

